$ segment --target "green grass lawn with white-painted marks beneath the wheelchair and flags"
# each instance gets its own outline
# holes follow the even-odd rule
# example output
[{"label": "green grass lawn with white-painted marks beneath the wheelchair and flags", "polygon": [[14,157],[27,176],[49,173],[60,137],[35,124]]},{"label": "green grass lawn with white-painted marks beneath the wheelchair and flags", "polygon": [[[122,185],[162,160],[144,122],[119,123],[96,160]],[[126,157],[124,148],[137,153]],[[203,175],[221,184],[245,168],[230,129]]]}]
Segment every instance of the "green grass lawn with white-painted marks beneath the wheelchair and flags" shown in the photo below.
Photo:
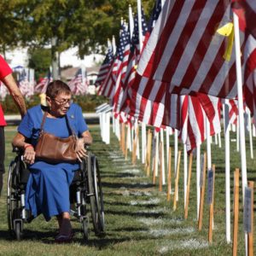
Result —
[{"label": "green grass lawn with white-painted marks beneath the wheelchair and flags", "polygon": [[[105,145],[101,141],[99,126],[91,126],[90,131],[94,137],[94,143],[90,150],[98,157],[102,172],[106,235],[104,237],[96,237],[91,228],[90,240],[88,243],[85,243],[80,232],[80,224],[76,219],[73,219],[72,224],[75,231],[73,242],[66,245],[55,244],[54,236],[57,232],[55,219],[52,218],[47,223],[40,216],[33,220],[31,224],[25,224],[25,234],[22,241],[14,241],[9,236],[7,224],[6,173],[3,193],[0,198],[0,255],[125,256],[232,254],[232,245],[227,244],[225,239],[224,140],[222,141],[222,148],[218,148],[217,145],[212,143],[212,164],[216,165],[216,178],[213,241],[212,244],[209,244],[207,241],[209,215],[207,201],[205,201],[202,230],[200,232],[197,230],[195,159],[190,186],[189,217],[187,220],[184,220],[183,155],[180,166],[179,201],[177,202],[177,210],[173,212],[173,195],[171,201],[167,202],[166,186],[163,186],[163,192],[159,192],[158,186],[152,184],[152,177],[146,177],[142,165],[138,163],[137,166],[132,166],[131,159],[124,160],[119,150],[119,142],[113,137],[113,134],[111,135],[111,144]],[[15,157],[15,154],[11,153],[10,145],[10,141],[15,135],[15,127],[9,126],[6,128],[5,133],[6,171],[8,171],[9,162]],[[236,135],[231,133],[230,136],[235,138]],[[255,138],[253,143],[255,145]],[[173,137],[171,137],[170,144],[173,146]],[[182,148],[182,145],[179,146]],[[203,150],[205,146],[205,144],[202,146]],[[249,155],[248,148],[247,155]],[[230,159],[232,208],[233,172],[236,167],[240,167],[240,155],[236,152],[235,142],[230,144]],[[174,163],[173,159],[172,163]],[[255,180],[255,169],[255,160],[250,160],[247,157],[248,180]],[[172,177],[174,177],[173,171]],[[174,181],[172,179],[173,188]],[[254,221],[256,221],[255,218]],[[232,212],[231,222],[233,222]],[[238,240],[238,255],[245,255],[241,189]],[[255,245],[254,239],[254,247]]]}]

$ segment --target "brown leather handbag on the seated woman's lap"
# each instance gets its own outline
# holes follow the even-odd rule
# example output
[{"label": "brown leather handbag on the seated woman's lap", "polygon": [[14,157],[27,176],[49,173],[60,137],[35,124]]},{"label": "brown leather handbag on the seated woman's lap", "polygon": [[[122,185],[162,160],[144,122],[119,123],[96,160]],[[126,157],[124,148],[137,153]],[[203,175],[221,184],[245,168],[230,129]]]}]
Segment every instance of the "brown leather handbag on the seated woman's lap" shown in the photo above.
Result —
[{"label": "brown leather handbag on the seated woman's lap", "polygon": [[56,164],[61,162],[76,162],[78,160],[76,154],[77,136],[71,128],[67,115],[67,126],[72,135],[67,138],[56,137],[55,135],[44,131],[44,122],[47,112],[44,113],[43,121],[41,124],[38,144],[36,146],[36,159],[44,160],[45,162]]}]

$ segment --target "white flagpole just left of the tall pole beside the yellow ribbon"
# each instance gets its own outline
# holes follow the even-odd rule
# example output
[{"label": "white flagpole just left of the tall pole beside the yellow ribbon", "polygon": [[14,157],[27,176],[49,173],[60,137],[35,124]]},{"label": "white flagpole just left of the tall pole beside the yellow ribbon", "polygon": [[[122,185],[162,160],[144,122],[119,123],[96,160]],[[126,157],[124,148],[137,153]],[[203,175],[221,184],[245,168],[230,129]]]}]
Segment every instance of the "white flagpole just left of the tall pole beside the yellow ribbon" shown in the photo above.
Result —
[{"label": "white flagpole just left of the tall pole beside the yellow ribbon", "polygon": [[225,137],[225,192],[226,192],[226,240],[230,237],[230,106],[229,100],[224,103],[224,137]]}]

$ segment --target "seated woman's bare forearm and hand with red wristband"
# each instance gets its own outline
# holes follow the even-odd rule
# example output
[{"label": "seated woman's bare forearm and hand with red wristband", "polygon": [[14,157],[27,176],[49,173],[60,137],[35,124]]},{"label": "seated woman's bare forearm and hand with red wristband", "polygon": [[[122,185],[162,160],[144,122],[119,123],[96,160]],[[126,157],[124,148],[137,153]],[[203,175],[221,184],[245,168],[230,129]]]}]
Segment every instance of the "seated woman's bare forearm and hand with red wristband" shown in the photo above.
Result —
[{"label": "seated woman's bare forearm and hand with red wristband", "polygon": [[13,146],[17,148],[23,148],[23,160],[28,164],[33,164],[35,162],[36,153],[34,147],[30,143],[26,143],[26,137],[18,132],[13,139]]}]

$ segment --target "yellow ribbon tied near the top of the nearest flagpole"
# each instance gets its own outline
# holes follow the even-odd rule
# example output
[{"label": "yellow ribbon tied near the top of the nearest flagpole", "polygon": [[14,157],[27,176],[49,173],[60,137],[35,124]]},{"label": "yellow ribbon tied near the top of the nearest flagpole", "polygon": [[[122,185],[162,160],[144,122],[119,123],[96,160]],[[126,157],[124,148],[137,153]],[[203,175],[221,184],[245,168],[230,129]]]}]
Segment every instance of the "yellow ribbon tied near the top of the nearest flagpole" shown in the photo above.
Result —
[{"label": "yellow ribbon tied near the top of the nearest flagpole", "polygon": [[230,61],[231,54],[232,54],[232,48],[233,48],[233,42],[234,42],[234,36],[235,36],[234,25],[232,22],[229,22],[229,23],[225,24],[224,26],[218,28],[217,32],[218,32],[218,34],[220,34],[224,37],[228,37],[228,46],[225,50],[223,57],[226,61]]}]

